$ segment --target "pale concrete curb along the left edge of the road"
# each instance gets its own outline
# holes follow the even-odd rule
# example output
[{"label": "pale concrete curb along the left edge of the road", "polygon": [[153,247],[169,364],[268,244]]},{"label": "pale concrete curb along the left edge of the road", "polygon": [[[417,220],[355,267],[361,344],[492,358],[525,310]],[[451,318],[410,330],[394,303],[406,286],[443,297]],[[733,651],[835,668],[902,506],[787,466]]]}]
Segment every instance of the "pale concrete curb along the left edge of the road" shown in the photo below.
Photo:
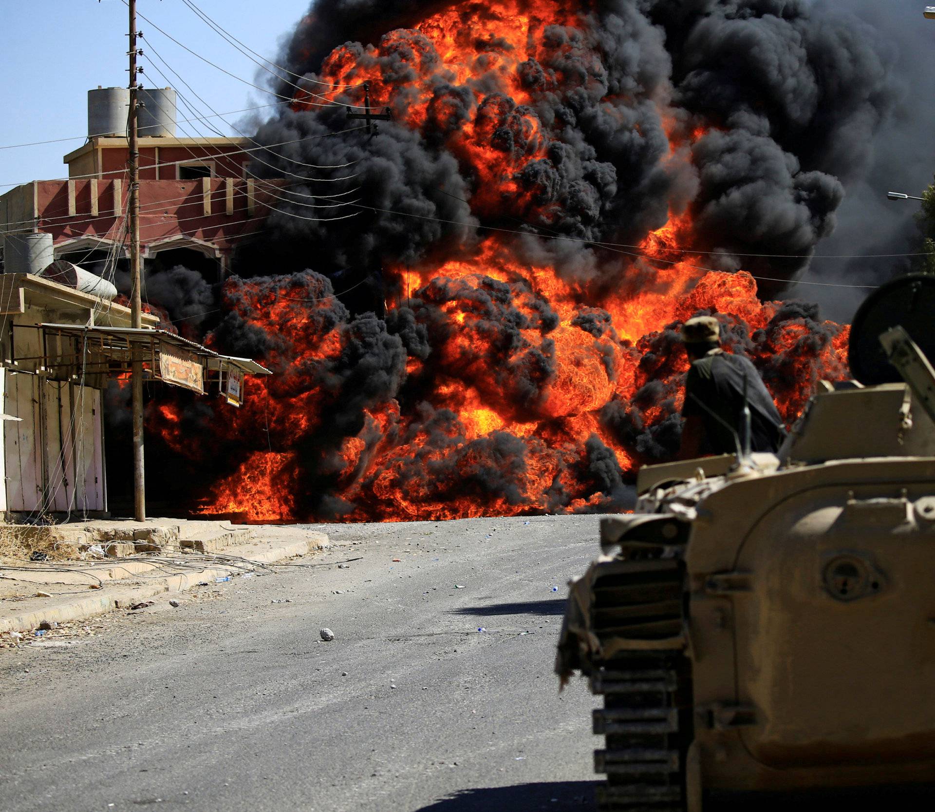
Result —
[{"label": "pale concrete curb along the left edge of the road", "polygon": [[[328,546],[328,537],[321,532],[309,533],[309,538],[300,542],[289,542],[272,547],[262,553],[256,553],[247,558],[258,564],[271,564],[282,558],[304,556],[309,550],[322,550]],[[88,598],[71,599],[56,602],[42,609],[24,612],[22,615],[4,617],[0,619],[0,633],[5,631],[33,631],[43,620],[50,623],[64,623],[67,620],[83,620],[87,617],[106,615],[115,609],[125,608],[132,603],[145,601],[153,595],[162,595],[172,592],[184,592],[191,589],[200,581],[211,581],[214,578],[223,578],[230,575],[230,567],[217,565],[198,573],[179,573],[167,575],[153,584],[145,584],[132,588],[114,589],[104,587],[102,594]]]}]

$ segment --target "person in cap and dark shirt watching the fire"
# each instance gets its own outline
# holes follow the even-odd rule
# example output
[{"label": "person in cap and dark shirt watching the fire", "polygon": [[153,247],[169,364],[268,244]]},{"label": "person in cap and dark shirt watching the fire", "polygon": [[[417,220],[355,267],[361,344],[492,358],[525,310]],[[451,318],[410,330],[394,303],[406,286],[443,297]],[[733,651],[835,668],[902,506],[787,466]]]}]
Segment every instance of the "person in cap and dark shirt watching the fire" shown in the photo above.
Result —
[{"label": "person in cap and dark shirt watching the fire", "polygon": [[750,359],[721,349],[717,319],[689,319],[682,326],[682,341],[692,366],[685,378],[679,458],[737,451],[731,429],[742,443],[744,393],[750,409],[750,450],[778,451],[785,437],[783,418]]}]

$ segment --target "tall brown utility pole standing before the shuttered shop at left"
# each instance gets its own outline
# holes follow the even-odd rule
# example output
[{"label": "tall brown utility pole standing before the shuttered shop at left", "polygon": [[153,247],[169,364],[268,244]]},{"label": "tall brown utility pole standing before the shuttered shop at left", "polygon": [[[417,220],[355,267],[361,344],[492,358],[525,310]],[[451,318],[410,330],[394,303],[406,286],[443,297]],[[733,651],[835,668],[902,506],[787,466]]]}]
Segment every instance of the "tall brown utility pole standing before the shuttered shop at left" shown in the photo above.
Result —
[{"label": "tall brown utility pole standing before the shuttered shop at left", "polygon": [[[143,326],[143,301],[139,259],[139,145],[137,114],[139,84],[137,82],[137,0],[128,0],[130,8],[130,117],[128,138],[130,148],[130,279],[132,284],[130,311],[133,327]],[[137,522],[146,520],[146,482],[143,475],[143,361],[137,358],[130,343],[131,384],[133,387],[133,511]]]}]

